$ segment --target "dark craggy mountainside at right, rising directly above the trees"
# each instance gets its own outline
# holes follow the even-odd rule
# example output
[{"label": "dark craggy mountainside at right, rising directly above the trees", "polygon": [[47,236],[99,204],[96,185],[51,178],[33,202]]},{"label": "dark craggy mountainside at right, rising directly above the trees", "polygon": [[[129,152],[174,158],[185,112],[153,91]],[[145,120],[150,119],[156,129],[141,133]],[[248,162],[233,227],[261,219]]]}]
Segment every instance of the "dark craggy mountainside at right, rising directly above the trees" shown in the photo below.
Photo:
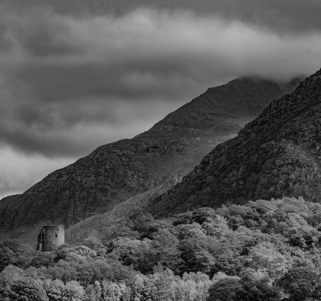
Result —
[{"label": "dark craggy mountainside at right, rising directly above the trees", "polygon": [[166,216],[282,196],[321,201],[321,71],[274,100],[147,207]]}]

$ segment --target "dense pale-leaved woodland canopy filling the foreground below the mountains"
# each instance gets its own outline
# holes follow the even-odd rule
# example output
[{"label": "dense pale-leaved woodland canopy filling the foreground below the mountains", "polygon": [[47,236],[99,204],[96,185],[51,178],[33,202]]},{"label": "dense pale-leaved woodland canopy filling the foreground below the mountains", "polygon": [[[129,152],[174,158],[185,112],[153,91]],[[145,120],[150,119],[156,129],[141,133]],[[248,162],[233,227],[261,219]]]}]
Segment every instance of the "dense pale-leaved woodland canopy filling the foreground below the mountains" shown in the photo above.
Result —
[{"label": "dense pale-leaved woodland canopy filling the foreground below the mountains", "polygon": [[321,300],[321,205],[303,199],[137,215],[56,252],[0,244],[1,300]]}]

